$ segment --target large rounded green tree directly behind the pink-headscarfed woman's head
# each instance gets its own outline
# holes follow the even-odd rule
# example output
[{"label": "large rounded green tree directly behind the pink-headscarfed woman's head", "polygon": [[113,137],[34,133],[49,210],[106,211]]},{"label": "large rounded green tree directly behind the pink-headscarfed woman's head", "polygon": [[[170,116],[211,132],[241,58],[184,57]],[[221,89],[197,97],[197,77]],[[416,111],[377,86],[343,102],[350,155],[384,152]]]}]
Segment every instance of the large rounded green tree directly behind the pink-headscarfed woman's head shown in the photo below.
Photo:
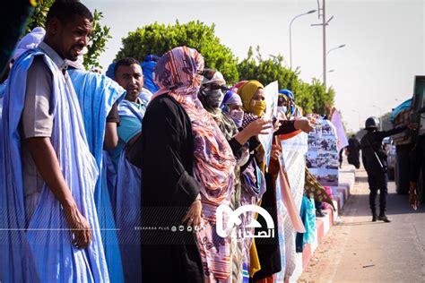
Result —
[{"label": "large rounded green tree directly behind the pink-headscarfed woman's head", "polygon": [[155,22],[129,32],[116,59],[134,57],[143,61],[145,56],[162,56],[174,47],[193,47],[204,56],[205,67],[219,70],[228,83],[237,82],[238,58],[220,43],[214,29],[214,24],[208,26],[202,21],[176,21],[174,25]]}]

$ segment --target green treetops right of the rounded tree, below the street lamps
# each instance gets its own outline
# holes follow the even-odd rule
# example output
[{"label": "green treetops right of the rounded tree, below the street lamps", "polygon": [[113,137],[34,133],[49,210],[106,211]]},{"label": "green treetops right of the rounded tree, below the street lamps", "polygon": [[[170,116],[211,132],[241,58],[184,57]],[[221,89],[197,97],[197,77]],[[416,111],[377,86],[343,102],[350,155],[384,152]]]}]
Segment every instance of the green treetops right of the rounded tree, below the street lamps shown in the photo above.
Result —
[{"label": "green treetops right of the rounded tree, below the street lamps", "polygon": [[325,107],[334,104],[334,89],[325,90],[321,81],[313,79],[310,83],[299,79],[299,69],[292,71],[282,64],[283,56],[263,59],[260,48],[256,47],[256,57],[249,47],[247,58],[238,64],[240,80],[258,80],[264,84],[279,82],[279,88],[291,90],[295,94],[297,105],[304,113],[325,114]]}]

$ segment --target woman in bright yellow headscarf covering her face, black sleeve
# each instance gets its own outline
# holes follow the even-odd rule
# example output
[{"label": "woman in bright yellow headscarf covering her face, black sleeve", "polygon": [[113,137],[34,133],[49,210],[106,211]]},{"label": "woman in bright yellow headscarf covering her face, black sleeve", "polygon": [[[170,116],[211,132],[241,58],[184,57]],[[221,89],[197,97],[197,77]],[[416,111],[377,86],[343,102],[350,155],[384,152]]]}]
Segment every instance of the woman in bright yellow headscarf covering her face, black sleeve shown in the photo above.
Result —
[{"label": "woman in bright yellow headscarf covering her face, black sleeve", "polygon": [[[242,100],[243,109],[245,111],[242,121],[242,127],[246,127],[253,121],[261,119],[265,113],[265,90],[264,86],[259,81],[247,81],[239,86],[238,94]],[[271,123],[271,121],[270,121]],[[303,121],[282,120],[279,121],[279,128],[276,128],[275,135],[295,133],[297,129],[304,129]],[[274,184],[268,182],[267,192],[265,193],[265,150],[258,141],[257,136],[249,140],[249,151],[252,152],[245,166],[241,167],[241,202],[244,204],[259,204],[264,207],[277,219],[275,208]],[[280,146],[273,145],[272,156],[280,154]],[[277,162],[279,164],[279,162]],[[270,168],[269,168],[270,171]],[[272,174],[272,172],[269,172]],[[273,175],[273,174],[272,174]],[[275,176],[274,176],[275,177]],[[272,178],[269,178],[272,179]],[[270,180],[269,180],[270,181]],[[276,220],[277,221],[277,220]],[[258,239],[256,239],[258,240]],[[273,243],[267,241],[248,242],[247,248],[250,249],[249,275],[257,282],[266,282],[273,280],[273,274],[282,270],[281,255],[279,244],[274,239]]]}]

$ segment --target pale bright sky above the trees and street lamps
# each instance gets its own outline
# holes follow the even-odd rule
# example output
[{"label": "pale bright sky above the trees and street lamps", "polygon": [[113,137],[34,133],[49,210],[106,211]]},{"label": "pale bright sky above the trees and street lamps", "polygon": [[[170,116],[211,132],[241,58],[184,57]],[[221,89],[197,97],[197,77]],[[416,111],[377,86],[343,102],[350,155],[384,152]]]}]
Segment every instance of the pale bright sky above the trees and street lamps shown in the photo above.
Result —
[{"label": "pale bright sky above the trees and street lamps", "polygon": [[[323,0],[318,0],[322,5]],[[100,56],[106,70],[122,47],[121,39],[155,21],[173,24],[199,20],[215,24],[221,43],[239,57],[260,46],[263,57],[282,55],[290,64],[290,22],[317,10],[317,0],[102,0],[83,1],[104,14],[110,27],[107,51]],[[347,130],[357,131],[369,116],[379,116],[412,97],[415,75],[425,71],[425,5],[422,0],[327,0],[327,86],[336,91],[335,107]],[[300,78],[323,79],[323,32],[318,14],[292,24],[292,66]],[[296,94],[295,94],[296,95]]]}]

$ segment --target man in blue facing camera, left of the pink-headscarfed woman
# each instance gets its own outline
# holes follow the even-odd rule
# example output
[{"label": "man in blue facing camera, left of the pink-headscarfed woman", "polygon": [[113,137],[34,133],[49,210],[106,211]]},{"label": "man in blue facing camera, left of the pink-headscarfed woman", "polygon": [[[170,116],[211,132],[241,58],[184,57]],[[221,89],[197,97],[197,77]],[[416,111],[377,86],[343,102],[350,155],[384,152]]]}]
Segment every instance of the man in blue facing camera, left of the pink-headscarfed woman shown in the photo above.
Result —
[{"label": "man in blue facing camera, left of the pink-headscarfed woman", "polygon": [[112,193],[115,207],[118,240],[123,259],[124,274],[127,282],[140,282],[141,255],[140,234],[135,227],[140,226],[141,208],[141,169],[134,167],[126,159],[126,149],[142,133],[142,120],[146,110],[139,94],[143,88],[143,73],[139,62],[134,58],[117,61],[114,80],[126,89],[126,98],[118,104],[120,124],[117,127],[118,146],[112,151],[117,167],[117,186]]}]

